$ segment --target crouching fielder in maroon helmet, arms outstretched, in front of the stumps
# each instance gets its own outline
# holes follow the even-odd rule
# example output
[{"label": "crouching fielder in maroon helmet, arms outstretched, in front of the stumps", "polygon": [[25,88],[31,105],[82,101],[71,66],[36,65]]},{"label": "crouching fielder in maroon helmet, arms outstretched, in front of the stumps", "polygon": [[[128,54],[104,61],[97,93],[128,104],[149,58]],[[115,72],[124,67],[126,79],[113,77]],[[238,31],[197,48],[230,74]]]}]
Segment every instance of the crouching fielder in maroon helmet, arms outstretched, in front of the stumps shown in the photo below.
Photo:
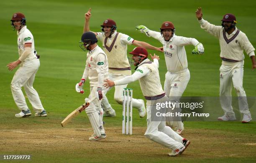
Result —
[{"label": "crouching fielder in maroon helmet, arms outstretched, in front of the stumps", "polygon": [[166,126],[164,117],[162,117],[162,120],[158,121],[151,119],[151,109],[156,106],[155,101],[164,98],[168,100],[160,83],[158,71],[159,56],[155,54],[152,56],[150,54],[151,59],[154,60],[154,62],[151,62],[148,59],[147,50],[143,47],[134,48],[130,54],[133,55],[133,65],[137,66],[133,75],[126,76],[123,79],[115,81],[105,80],[106,83],[104,83],[104,86],[112,87],[114,85],[124,85],[139,80],[141,91],[147,100],[147,130],[145,136],[150,140],[171,149],[172,152],[168,154],[169,156],[181,154],[185,148],[187,148],[190,141],[182,138],[180,135],[175,133],[172,128]]}]

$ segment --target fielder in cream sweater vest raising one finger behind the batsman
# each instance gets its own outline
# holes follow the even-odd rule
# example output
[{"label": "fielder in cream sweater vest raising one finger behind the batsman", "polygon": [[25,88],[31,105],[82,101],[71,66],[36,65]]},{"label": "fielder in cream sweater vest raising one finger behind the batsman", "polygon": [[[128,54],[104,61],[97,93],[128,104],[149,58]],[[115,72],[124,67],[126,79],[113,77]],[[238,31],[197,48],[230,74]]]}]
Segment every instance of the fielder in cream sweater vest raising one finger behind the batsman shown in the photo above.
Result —
[{"label": "fielder in cream sweater vest raising one finger behind the batsman", "polygon": [[[85,13],[84,32],[90,31],[89,20],[91,17],[91,9]],[[133,38],[123,33],[116,31],[116,23],[114,20],[107,19],[101,25],[102,32],[95,33],[98,40],[102,42],[103,50],[108,56],[109,78],[118,80],[131,75],[131,66],[127,59],[127,45],[142,46],[147,49],[162,51],[161,48],[156,48],[148,43],[134,40]],[[115,86],[114,99],[119,104],[123,103],[123,88],[127,85]],[[145,104],[141,99],[133,98],[133,107],[138,109],[139,115],[143,118],[146,115]],[[102,100],[104,116],[115,116],[115,110],[110,106],[107,97]]]}]

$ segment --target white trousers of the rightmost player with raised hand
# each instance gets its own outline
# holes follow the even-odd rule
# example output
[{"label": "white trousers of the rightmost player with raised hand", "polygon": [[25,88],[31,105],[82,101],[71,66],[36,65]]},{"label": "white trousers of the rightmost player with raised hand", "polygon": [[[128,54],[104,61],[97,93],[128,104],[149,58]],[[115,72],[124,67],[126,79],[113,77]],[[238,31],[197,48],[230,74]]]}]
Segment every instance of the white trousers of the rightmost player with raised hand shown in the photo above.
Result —
[{"label": "white trousers of the rightmost player with raised hand", "polygon": [[228,116],[235,116],[232,108],[232,83],[238,96],[241,113],[250,113],[246,93],[243,89],[243,61],[220,66],[220,105]]}]

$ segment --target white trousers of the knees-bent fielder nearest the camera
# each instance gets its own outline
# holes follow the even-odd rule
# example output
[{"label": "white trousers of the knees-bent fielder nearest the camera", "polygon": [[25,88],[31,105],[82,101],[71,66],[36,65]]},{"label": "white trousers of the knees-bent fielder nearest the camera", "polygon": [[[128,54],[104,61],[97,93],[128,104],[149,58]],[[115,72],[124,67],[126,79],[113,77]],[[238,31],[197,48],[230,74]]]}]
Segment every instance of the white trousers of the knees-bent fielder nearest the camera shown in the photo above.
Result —
[{"label": "white trousers of the knees-bent fielder nearest the camera", "polygon": [[[166,98],[166,96],[164,98]],[[151,121],[151,109],[156,108],[156,106],[153,106],[153,103],[153,100],[151,100],[151,105],[146,105],[147,130],[145,136],[169,149],[176,150],[181,148],[183,146],[183,138],[179,134],[175,133],[172,128],[165,125],[164,116],[161,118],[161,121],[159,119],[158,121]],[[156,115],[153,115],[153,117],[156,117]]]}]

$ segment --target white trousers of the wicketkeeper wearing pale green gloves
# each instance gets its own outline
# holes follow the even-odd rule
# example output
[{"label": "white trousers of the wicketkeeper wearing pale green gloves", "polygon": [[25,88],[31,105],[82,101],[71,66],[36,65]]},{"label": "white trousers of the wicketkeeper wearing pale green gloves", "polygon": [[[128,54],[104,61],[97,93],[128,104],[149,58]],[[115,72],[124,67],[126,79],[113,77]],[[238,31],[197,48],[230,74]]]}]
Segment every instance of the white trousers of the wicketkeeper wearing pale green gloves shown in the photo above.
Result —
[{"label": "white trousers of the wicketkeeper wearing pale green gloves", "polygon": [[[167,71],[164,81],[164,92],[166,96],[169,96],[170,101],[179,101],[184,93],[187,84],[190,79],[190,73],[188,69],[179,71],[177,73],[170,73]],[[177,129],[184,130],[182,121],[173,121],[171,117],[166,118],[166,123],[170,127],[176,127]]]}]

